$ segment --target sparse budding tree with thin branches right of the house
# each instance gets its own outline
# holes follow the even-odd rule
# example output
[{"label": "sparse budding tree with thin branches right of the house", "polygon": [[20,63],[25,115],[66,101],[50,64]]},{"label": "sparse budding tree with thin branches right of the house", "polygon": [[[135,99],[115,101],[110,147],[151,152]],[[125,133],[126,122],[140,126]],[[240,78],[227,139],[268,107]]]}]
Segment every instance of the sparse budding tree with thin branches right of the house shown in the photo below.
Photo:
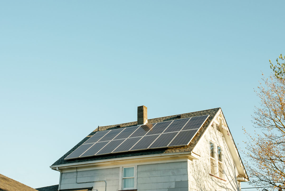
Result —
[{"label": "sparse budding tree with thin branches right of the house", "polygon": [[[284,61],[282,55],[279,56]],[[270,61],[270,60],[269,60]],[[260,107],[255,107],[254,135],[248,135],[244,154],[249,160],[246,168],[250,174],[250,184],[255,186],[275,186],[285,189],[285,63],[270,68],[273,75],[265,78],[255,92],[260,98]],[[263,84],[263,85],[262,85]],[[281,186],[280,186],[281,185]],[[277,189],[273,187],[272,189]]]}]

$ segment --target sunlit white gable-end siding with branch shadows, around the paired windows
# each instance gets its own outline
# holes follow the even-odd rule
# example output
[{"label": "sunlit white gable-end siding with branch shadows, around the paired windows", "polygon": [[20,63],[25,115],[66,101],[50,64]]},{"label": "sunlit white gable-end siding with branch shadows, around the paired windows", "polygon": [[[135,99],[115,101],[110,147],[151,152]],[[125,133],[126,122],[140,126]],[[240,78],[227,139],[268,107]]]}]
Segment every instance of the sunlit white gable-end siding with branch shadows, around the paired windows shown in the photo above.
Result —
[{"label": "sunlit white gable-end siding with branch shadows, around the paired windows", "polygon": [[[226,135],[228,136],[228,135]],[[209,141],[220,145],[223,149],[223,169],[224,180],[211,176],[209,164]],[[199,160],[188,161],[189,191],[237,191],[239,182],[237,182],[237,170],[235,168],[230,151],[227,148],[225,139],[220,131],[210,126],[204,136],[198,142],[193,150],[200,155]]]}]

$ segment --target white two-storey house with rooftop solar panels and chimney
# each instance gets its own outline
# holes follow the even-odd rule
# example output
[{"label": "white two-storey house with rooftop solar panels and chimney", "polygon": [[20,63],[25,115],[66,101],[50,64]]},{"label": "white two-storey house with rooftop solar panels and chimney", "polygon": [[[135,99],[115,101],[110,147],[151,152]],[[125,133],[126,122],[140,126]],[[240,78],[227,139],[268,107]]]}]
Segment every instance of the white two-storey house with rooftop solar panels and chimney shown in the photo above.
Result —
[{"label": "white two-storey house with rooftop solar panels and chimney", "polygon": [[98,126],[54,162],[57,189],[237,191],[249,180],[221,108],[148,119],[139,106],[137,115]]}]

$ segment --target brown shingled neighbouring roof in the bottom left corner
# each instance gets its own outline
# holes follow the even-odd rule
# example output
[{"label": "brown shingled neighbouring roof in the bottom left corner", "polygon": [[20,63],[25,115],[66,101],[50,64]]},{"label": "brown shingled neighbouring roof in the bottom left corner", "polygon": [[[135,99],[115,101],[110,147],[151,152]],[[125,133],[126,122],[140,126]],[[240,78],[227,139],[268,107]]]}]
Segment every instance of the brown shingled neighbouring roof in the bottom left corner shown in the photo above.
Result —
[{"label": "brown shingled neighbouring roof in the bottom left corner", "polygon": [[22,184],[21,182],[18,182],[16,180],[13,180],[12,178],[4,176],[3,174],[0,174],[0,191],[15,191],[15,190],[37,191],[34,188],[31,188],[30,186],[27,186],[25,184]]}]

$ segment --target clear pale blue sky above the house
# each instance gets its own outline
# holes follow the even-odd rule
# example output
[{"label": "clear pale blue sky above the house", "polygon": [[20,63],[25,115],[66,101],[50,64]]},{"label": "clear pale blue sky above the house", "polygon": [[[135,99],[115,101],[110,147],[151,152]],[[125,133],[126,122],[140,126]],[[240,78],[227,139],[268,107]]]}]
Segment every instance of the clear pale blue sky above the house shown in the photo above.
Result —
[{"label": "clear pale blue sky above the house", "polygon": [[98,125],[221,107],[236,143],[283,1],[1,1],[0,173],[33,188]]}]

